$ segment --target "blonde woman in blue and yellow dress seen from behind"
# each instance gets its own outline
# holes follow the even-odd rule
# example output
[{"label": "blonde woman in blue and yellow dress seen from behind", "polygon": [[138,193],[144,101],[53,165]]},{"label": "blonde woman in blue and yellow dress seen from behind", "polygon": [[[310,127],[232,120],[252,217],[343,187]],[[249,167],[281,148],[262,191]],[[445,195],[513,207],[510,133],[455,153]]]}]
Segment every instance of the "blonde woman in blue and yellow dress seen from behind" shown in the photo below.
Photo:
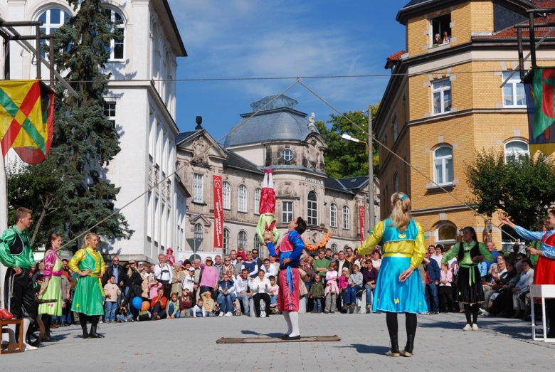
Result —
[{"label": "blonde woman in blue and yellow dress seen from behind", "polygon": [[[391,350],[387,356],[410,357],[416,334],[416,314],[428,312],[420,274],[416,268],[425,256],[424,232],[411,218],[411,199],[404,193],[391,196],[391,215],[374,226],[359,248],[359,253],[370,253],[380,241],[384,255],[374,290],[374,312],[385,312]],[[405,313],[407,341],[403,351],[398,346],[397,314]]]}]

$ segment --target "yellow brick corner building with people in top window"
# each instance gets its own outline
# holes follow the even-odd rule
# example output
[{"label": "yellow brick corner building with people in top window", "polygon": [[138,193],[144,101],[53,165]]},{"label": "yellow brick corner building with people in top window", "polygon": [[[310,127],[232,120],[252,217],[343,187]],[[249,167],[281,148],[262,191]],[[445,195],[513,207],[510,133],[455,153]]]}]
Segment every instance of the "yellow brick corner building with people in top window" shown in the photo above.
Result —
[{"label": "yellow brick corner building with people in top window", "polygon": [[[549,4],[412,0],[398,11],[407,52],[388,58],[392,75],[374,126],[376,137],[398,156],[380,149],[382,216],[391,210],[391,194],[406,191],[428,244],[453,245],[468,225],[480,240],[491,238],[501,248],[500,230],[494,226],[487,234],[491,225],[465,206],[473,200],[465,169],[482,149],[504,149],[506,156],[528,153],[526,100],[512,26],[526,21],[527,9]],[[539,48],[537,58],[553,65],[554,47]]]}]

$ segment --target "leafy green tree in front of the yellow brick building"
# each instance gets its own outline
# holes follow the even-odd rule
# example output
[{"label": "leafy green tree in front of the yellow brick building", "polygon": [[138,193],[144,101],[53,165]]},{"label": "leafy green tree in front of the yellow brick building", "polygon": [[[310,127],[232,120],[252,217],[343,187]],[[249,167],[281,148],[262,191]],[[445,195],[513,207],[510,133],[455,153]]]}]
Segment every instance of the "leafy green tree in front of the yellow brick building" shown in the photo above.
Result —
[{"label": "leafy green tree in front of the yellow brick building", "polygon": [[482,151],[466,176],[480,213],[500,211],[527,228],[544,219],[555,201],[555,164],[545,156],[505,161],[502,151]]}]

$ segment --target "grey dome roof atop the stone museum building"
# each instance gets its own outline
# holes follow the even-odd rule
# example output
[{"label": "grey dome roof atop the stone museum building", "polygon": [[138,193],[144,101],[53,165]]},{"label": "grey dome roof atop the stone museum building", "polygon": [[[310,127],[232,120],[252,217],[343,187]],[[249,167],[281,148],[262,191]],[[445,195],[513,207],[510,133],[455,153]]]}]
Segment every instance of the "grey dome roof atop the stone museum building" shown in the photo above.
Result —
[{"label": "grey dome roof atop the stone museum building", "polygon": [[[253,102],[251,107],[260,107],[258,104],[264,100],[268,102],[268,98],[273,97]],[[260,111],[253,117],[252,112],[240,115],[243,119],[231,129],[224,147],[280,140],[304,141],[308,134],[319,133],[307,114],[294,109],[297,101],[285,96],[280,98],[283,98],[279,102],[281,107],[273,105],[270,110]]]}]

